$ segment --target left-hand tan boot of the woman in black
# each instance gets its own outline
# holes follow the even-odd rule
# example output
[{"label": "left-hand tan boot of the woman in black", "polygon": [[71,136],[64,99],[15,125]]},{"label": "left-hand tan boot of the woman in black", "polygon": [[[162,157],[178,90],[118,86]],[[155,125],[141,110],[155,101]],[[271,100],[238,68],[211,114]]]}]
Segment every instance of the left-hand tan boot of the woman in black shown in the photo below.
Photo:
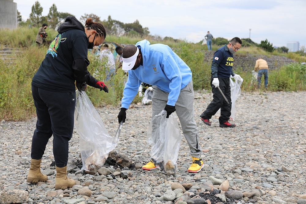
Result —
[{"label": "left-hand tan boot of the woman in black", "polygon": [[31,167],[27,178],[28,183],[46,182],[48,180],[48,176],[40,172],[40,162],[41,159],[31,159]]}]

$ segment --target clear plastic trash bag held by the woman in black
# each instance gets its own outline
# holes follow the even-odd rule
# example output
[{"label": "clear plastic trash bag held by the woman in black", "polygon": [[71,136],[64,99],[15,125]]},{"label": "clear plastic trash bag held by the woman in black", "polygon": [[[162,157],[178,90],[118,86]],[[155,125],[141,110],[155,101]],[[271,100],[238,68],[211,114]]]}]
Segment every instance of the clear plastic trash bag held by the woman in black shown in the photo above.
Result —
[{"label": "clear plastic trash bag held by the woman in black", "polygon": [[104,165],[108,153],[117,146],[118,139],[108,134],[85,91],[80,94],[76,90],[74,127],[80,135],[82,170],[96,172]]}]

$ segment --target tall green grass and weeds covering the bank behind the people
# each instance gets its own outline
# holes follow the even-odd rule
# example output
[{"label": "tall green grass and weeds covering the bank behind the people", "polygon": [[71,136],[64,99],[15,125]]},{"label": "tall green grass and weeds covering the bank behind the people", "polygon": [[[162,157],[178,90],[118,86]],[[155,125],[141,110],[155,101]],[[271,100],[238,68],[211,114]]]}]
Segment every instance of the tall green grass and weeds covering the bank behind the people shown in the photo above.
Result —
[{"label": "tall green grass and weeds covering the bank behind the people", "polygon": [[[43,61],[47,48],[38,47],[35,44],[35,38],[38,28],[17,28],[13,32],[11,30],[0,30],[0,49],[3,44],[10,47],[19,47],[18,52],[13,53],[15,60],[0,59],[0,120],[20,121],[27,120],[35,116],[35,107],[33,104],[31,93],[32,77]],[[53,39],[56,31],[47,30],[48,37]],[[186,62],[192,70],[192,80],[194,90],[206,89],[210,90],[211,69],[210,64],[204,63],[204,52],[207,46],[200,43],[188,43],[184,40],[175,42],[173,40],[161,41],[153,37],[140,36],[113,36],[107,35],[105,41],[114,41],[117,43],[135,44],[136,42],[148,39],[151,44],[163,43],[173,48],[179,57]],[[213,46],[217,50],[218,46]],[[267,52],[257,47],[242,47],[239,51],[241,54],[265,54]],[[274,53],[272,53],[274,54]],[[277,53],[275,53],[277,54]],[[271,54],[270,54],[271,55]],[[306,61],[305,57],[295,53],[282,54],[290,57],[298,62]],[[99,59],[97,56],[88,54],[88,59],[91,62],[88,70],[96,79],[104,81],[109,88],[109,93],[99,91],[99,89],[89,87],[87,94],[94,106],[118,106],[122,98],[124,84],[127,80],[125,72],[121,69],[106,80],[106,61]],[[117,62],[118,63],[118,62]],[[118,65],[118,64],[117,64]],[[116,66],[117,66],[116,65]],[[239,69],[239,68],[238,68]],[[298,91],[306,90],[306,67],[300,63],[283,66],[279,70],[269,72],[269,87],[270,91]],[[249,72],[237,70],[241,77],[244,78],[241,89],[243,91],[254,91],[256,89],[256,79],[252,80],[252,75]],[[263,84],[262,79],[262,84]],[[134,102],[140,102],[141,98],[137,95]]]}]

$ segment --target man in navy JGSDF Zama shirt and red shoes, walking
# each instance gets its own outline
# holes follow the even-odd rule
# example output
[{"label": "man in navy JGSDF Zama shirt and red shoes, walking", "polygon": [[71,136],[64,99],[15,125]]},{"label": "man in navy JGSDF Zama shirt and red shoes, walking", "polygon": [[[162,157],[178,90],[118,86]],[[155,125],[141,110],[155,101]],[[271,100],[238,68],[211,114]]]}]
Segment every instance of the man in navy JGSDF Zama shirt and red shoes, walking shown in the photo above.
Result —
[{"label": "man in navy JGSDF Zama shirt and red shoes, walking", "polygon": [[[233,54],[240,49],[241,44],[241,39],[235,37],[230,40],[230,43],[215,51],[211,63],[211,91],[213,93],[213,100],[200,115],[201,120],[206,125],[211,125],[209,119],[211,119],[211,117],[221,108],[221,114],[219,117],[220,127],[233,128],[236,126],[235,124],[230,124],[228,122],[232,109],[230,77],[233,76],[235,80],[243,81],[241,76],[233,72]],[[229,103],[226,102],[218,87],[221,89]]]}]

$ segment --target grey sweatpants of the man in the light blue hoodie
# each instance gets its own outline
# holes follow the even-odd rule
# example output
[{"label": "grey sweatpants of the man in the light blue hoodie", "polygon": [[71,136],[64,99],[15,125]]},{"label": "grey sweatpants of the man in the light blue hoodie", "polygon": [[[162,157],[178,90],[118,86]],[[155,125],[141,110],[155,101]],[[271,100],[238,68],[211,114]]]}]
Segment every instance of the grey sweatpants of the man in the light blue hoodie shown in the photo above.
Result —
[{"label": "grey sweatpants of the man in the light blue hoodie", "polygon": [[[169,93],[160,90],[156,86],[152,86],[154,89],[152,96],[152,118],[159,114],[166,106]],[[176,114],[180,120],[183,134],[190,148],[190,154],[192,157],[200,158],[201,146],[199,143],[199,132],[196,127],[196,121],[194,120],[193,109],[193,84],[192,80],[184,87],[175,103]]]}]

